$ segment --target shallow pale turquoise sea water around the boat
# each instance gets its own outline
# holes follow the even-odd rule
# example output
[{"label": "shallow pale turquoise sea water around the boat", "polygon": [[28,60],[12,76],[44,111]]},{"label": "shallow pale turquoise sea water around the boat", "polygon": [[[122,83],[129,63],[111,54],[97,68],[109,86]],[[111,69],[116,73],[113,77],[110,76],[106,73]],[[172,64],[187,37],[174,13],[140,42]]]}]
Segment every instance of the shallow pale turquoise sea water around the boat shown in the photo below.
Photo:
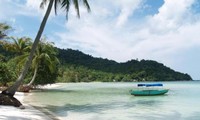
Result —
[{"label": "shallow pale turquoise sea water around the boat", "polygon": [[200,82],[159,82],[166,95],[133,96],[137,83],[63,83],[25,102],[61,120],[200,120]]}]

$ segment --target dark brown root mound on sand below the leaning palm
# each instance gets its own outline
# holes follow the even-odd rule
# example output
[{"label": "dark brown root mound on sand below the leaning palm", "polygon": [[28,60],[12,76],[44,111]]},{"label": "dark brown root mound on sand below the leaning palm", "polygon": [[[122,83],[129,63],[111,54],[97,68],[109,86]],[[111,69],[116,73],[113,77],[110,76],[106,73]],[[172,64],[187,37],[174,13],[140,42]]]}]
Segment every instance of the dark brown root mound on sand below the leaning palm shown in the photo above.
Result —
[{"label": "dark brown root mound on sand below the leaning palm", "polygon": [[9,105],[9,106],[15,106],[15,107],[22,106],[21,102],[17,100],[15,97],[1,94],[1,93],[0,93],[0,105]]}]

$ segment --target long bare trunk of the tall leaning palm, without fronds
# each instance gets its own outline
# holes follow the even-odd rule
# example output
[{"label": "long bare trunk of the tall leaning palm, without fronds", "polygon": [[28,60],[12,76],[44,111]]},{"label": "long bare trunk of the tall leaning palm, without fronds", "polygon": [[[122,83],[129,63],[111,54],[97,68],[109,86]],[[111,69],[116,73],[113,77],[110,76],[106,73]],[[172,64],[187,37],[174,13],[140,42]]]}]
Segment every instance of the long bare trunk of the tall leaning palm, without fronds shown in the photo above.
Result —
[{"label": "long bare trunk of the tall leaning palm, without fronds", "polygon": [[48,19],[49,15],[50,15],[50,12],[51,12],[51,9],[52,9],[52,6],[53,6],[53,2],[54,2],[54,0],[50,0],[50,2],[49,2],[46,14],[45,14],[45,16],[44,16],[44,18],[42,20],[42,23],[40,25],[39,31],[38,31],[37,36],[36,36],[36,38],[34,40],[34,43],[32,45],[32,49],[31,49],[30,55],[28,57],[28,60],[25,63],[25,66],[24,66],[24,69],[23,69],[22,73],[18,77],[17,81],[11,87],[9,87],[6,90],[2,91],[2,94],[6,94],[6,95],[9,95],[9,96],[14,96],[15,92],[20,87],[21,83],[23,82],[24,77],[26,76],[26,74],[28,72],[28,69],[31,66],[33,55],[34,55],[36,47],[37,47],[37,45],[38,45],[38,43],[40,41],[40,38],[41,38],[41,35],[43,33],[44,27],[46,25],[47,19]]}]

